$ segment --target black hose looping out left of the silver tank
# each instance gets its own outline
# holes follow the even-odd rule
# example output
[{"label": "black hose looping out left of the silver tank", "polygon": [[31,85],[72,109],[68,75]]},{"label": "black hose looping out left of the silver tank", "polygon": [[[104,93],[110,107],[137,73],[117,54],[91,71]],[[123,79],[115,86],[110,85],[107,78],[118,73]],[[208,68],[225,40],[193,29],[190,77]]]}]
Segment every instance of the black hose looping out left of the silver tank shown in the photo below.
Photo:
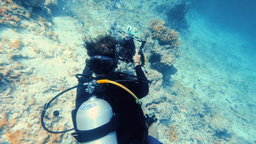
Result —
[{"label": "black hose looping out left of the silver tank", "polygon": [[60,131],[60,132],[51,131],[51,130],[49,130],[48,128],[46,128],[45,123],[43,122],[43,117],[45,116],[46,110],[49,108],[51,102],[54,101],[54,99],[58,98],[58,96],[64,94],[65,92],[70,91],[71,89],[74,89],[74,88],[78,88],[78,87],[80,87],[80,86],[83,86],[83,85],[77,85],[77,86],[73,86],[73,87],[71,87],[71,88],[66,89],[65,91],[61,92],[60,94],[54,96],[54,98],[52,98],[48,103],[46,103],[46,104],[44,105],[43,110],[42,110],[42,114],[41,114],[41,125],[43,126],[43,128],[44,128],[47,132],[50,132],[50,133],[52,133],[52,134],[61,134],[61,133],[64,133],[64,132],[69,132],[69,131],[74,130],[74,128],[72,128],[72,129],[68,129],[68,130]]}]

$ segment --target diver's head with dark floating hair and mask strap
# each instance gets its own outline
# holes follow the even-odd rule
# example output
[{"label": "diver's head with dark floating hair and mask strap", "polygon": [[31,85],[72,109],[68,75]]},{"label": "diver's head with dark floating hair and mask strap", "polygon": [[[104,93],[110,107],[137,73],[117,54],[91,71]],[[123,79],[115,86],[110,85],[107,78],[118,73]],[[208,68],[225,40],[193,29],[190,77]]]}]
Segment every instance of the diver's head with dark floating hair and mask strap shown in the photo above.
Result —
[{"label": "diver's head with dark floating hair and mask strap", "polygon": [[86,59],[86,67],[98,76],[115,71],[116,39],[110,35],[100,35],[94,39],[85,40],[85,48],[90,56]]}]

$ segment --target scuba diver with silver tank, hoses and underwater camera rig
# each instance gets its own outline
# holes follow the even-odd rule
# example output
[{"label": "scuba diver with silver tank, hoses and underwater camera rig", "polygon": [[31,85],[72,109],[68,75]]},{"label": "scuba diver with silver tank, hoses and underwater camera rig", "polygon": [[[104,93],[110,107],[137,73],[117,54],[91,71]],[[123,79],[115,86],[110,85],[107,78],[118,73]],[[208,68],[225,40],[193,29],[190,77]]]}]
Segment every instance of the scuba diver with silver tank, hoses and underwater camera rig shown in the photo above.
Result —
[{"label": "scuba diver with silver tank, hoses and underwater camera rig", "polygon": [[[130,26],[126,32],[119,30],[125,35],[122,40],[109,34],[84,39],[89,58],[83,74],[76,74],[77,86],[44,105],[41,124],[46,131],[58,134],[75,130],[71,135],[79,144],[162,144],[157,129],[151,126],[157,121],[155,115],[144,114],[139,101],[148,94],[150,81],[141,68],[145,64],[142,48],[146,41],[135,37],[134,31],[137,29]],[[135,49],[134,40],[141,42],[139,50]],[[137,76],[116,72],[119,60],[132,62]],[[43,121],[46,110],[54,99],[74,88],[77,88],[76,106],[71,111],[74,128],[61,132],[49,130]],[[55,110],[54,116],[58,115]]]}]

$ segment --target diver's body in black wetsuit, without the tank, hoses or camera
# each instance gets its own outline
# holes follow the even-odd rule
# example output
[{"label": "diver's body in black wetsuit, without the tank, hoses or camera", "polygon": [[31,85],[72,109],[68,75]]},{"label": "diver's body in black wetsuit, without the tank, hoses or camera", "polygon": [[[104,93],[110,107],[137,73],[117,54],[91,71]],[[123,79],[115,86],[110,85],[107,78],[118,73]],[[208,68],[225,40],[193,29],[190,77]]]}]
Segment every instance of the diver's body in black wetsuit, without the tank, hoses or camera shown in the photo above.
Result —
[{"label": "diver's body in black wetsuit, without the tank, hoses or camera", "polygon": [[[125,40],[123,46],[135,48],[133,39]],[[90,58],[86,59],[86,66],[83,70],[85,81],[82,83],[101,79],[127,80],[124,73],[115,72],[118,61],[115,60],[116,40],[114,37],[110,35],[98,36],[96,39],[86,41],[85,48]],[[138,49],[135,50],[133,61],[138,79],[147,80],[140,66],[141,58],[138,55]],[[95,73],[95,77],[92,77],[92,73]],[[148,83],[133,81],[119,83],[132,91],[139,99],[149,92]],[[158,132],[155,128],[149,127],[151,136],[148,136],[148,128],[140,104],[136,103],[127,91],[117,88],[115,85],[105,85],[103,87],[98,88],[97,91],[95,90],[94,95],[106,100],[111,105],[113,113],[118,116],[119,126],[116,129],[118,144],[161,144],[157,140]],[[90,97],[84,89],[86,89],[86,86],[77,88],[76,109],[81,108],[83,102]]]}]

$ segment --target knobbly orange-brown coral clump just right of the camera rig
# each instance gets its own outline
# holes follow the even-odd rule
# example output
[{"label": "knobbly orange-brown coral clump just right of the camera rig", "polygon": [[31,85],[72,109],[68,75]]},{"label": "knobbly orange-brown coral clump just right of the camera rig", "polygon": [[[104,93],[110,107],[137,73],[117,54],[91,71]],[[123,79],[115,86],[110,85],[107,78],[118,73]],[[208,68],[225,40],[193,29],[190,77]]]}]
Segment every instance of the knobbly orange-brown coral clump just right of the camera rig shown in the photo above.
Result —
[{"label": "knobbly orange-brown coral clump just right of the camera rig", "polygon": [[180,45],[179,32],[166,27],[164,21],[153,19],[149,21],[148,26],[159,45],[171,45],[173,48]]}]

